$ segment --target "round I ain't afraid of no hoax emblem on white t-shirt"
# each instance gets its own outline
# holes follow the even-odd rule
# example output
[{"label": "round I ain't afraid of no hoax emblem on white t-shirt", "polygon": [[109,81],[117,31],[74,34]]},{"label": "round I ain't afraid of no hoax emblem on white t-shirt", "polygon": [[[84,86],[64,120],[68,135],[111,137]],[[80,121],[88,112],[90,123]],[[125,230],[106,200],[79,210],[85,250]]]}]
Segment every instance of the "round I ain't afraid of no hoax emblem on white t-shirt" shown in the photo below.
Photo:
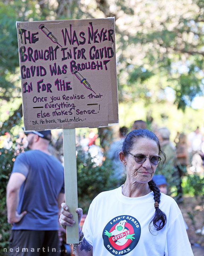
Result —
[{"label": "round I ain't afraid of no hoax emblem on white t-shirt", "polygon": [[131,252],[140,240],[140,223],[130,215],[120,215],[103,229],[103,244],[113,255]]}]

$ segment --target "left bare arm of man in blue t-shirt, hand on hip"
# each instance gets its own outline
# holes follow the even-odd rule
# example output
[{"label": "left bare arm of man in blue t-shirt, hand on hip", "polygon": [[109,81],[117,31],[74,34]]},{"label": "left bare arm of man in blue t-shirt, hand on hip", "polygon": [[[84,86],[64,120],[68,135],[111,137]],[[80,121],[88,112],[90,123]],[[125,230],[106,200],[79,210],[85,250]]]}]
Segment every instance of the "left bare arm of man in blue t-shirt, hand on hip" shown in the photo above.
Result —
[{"label": "left bare arm of man in blue t-shirt, hand on hip", "polygon": [[6,205],[7,205],[7,218],[8,223],[12,225],[12,223],[19,222],[24,215],[26,215],[26,211],[22,212],[21,214],[17,213],[17,206],[19,201],[19,191],[26,180],[26,177],[19,173],[13,172],[11,177],[8,181],[7,188],[6,188]]}]

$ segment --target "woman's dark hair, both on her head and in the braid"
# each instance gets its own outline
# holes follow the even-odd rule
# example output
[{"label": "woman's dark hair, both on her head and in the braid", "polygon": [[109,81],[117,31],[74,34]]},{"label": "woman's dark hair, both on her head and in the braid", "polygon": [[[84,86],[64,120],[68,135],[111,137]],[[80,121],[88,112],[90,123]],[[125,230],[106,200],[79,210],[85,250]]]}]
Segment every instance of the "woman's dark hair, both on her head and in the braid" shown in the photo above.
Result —
[{"label": "woman's dark hair, both on her head and in the braid", "polygon": [[[125,140],[123,142],[123,154],[125,156],[128,156],[128,152],[131,151],[132,146],[136,143],[137,139],[141,139],[141,138],[154,140],[157,143],[158,148],[159,148],[159,155],[163,156],[162,159],[163,159],[163,163],[164,163],[166,160],[166,156],[165,156],[165,153],[161,149],[159,139],[153,132],[150,132],[147,129],[133,130],[132,132],[130,132],[127,135],[127,137],[125,138]],[[149,181],[148,185],[154,193],[154,201],[159,204],[160,196],[161,196],[159,188],[157,187],[156,183],[153,180]],[[155,208],[154,217],[149,224],[149,231],[151,230],[150,226],[152,223],[155,226],[155,228],[157,229],[157,231],[161,230],[164,227],[164,225],[166,224],[166,214],[164,212],[162,212],[162,210],[160,210],[159,207]]]}]

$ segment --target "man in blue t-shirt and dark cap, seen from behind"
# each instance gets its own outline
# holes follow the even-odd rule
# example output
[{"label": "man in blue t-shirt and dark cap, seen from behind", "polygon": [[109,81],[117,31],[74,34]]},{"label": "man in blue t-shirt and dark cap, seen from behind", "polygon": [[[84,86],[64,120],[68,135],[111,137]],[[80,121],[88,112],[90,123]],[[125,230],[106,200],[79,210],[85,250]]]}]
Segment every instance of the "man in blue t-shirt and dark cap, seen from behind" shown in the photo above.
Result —
[{"label": "man in blue t-shirt and dark cap, seen from behind", "polygon": [[48,150],[50,130],[26,135],[30,150],[17,156],[7,184],[7,219],[12,225],[10,255],[37,256],[45,252],[58,256],[64,168]]}]

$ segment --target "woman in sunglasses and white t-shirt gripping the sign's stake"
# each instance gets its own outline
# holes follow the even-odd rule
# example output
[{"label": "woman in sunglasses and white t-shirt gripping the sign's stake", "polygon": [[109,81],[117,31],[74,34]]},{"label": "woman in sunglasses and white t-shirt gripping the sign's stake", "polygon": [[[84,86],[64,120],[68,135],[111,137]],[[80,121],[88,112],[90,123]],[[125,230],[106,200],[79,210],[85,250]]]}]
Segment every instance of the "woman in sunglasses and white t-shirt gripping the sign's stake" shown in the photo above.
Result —
[{"label": "woman in sunglasses and white t-shirt gripping the sign's stake", "polygon": [[[83,232],[79,226],[77,255],[193,256],[179,207],[152,180],[162,155],[165,159],[158,138],[149,130],[127,135],[119,153],[126,181],[92,201]],[[63,203],[62,208],[62,227],[73,226],[68,206]],[[80,223],[82,209],[76,211]]]}]

